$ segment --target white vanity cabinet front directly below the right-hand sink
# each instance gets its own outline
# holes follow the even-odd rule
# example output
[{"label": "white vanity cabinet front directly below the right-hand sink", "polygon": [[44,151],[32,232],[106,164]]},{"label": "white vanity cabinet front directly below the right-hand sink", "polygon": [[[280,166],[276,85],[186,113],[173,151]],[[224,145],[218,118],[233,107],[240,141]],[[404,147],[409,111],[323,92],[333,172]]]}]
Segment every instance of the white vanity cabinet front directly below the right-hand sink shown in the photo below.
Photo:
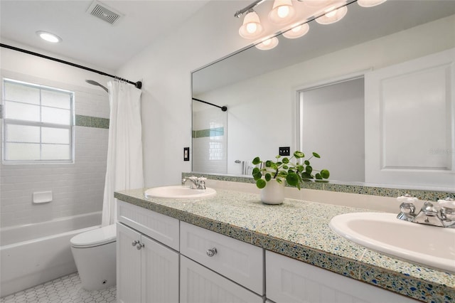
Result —
[{"label": "white vanity cabinet front directly below the right-hand sink", "polygon": [[267,299],[287,303],[417,302],[373,285],[267,251]]}]

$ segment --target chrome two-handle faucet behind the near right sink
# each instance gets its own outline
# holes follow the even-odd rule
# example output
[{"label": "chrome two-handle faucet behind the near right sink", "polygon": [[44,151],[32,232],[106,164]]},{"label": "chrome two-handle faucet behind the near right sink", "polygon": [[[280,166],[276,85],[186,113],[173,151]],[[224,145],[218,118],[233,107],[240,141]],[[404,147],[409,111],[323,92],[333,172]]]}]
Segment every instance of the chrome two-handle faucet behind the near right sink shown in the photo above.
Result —
[{"label": "chrome two-handle faucet behind the near right sink", "polygon": [[438,200],[437,205],[426,201],[419,213],[415,213],[414,203],[417,198],[406,194],[397,198],[400,204],[400,213],[397,218],[412,223],[426,224],[432,226],[455,228],[455,201],[453,198]]}]

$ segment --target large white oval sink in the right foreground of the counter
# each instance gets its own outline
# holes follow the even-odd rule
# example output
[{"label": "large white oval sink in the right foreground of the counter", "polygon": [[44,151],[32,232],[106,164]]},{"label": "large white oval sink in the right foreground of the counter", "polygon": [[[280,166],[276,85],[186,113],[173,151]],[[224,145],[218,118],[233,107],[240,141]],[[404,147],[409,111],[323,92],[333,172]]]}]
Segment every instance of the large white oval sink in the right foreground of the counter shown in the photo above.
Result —
[{"label": "large white oval sink in the right foreground of the counter", "polygon": [[394,213],[346,213],[330,227],[365,248],[455,273],[455,229],[411,223]]}]

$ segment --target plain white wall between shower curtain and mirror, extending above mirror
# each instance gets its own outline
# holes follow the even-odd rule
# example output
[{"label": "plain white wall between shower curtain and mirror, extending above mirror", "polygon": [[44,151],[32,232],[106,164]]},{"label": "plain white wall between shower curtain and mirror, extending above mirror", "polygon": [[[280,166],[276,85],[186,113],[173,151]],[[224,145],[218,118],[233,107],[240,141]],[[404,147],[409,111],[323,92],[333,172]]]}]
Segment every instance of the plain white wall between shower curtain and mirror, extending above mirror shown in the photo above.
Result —
[{"label": "plain white wall between shower curtain and mirror, extending above mirror", "polygon": [[191,161],[183,161],[183,147],[191,147],[191,71],[247,46],[237,34],[242,19],[233,17],[243,6],[245,1],[210,1],[120,69],[144,85],[145,186],[180,184],[181,172],[191,171]]}]

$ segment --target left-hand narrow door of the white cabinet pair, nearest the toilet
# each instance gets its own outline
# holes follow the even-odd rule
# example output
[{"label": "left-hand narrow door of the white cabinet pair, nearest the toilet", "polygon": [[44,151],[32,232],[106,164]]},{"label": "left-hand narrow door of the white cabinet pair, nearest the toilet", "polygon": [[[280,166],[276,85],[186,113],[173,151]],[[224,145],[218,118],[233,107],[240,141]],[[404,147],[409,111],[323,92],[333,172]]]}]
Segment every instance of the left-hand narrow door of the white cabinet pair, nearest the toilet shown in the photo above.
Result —
[{"label": "left-hand narrow door of the white cabinet pair, nearest the toilet", "polygon": [[141,302],[141,250],[137,231],[117,223],[117,302]]}]

